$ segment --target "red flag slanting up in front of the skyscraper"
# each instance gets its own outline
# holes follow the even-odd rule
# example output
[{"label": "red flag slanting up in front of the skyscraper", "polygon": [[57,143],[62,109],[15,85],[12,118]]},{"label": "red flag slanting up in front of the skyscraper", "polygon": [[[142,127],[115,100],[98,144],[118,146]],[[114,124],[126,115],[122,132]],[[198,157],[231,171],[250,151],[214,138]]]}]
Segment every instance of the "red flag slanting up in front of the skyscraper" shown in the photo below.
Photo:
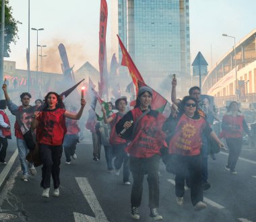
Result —
[{"label": "red flag slanting up in front of the skyscraper", "polygon": [[125,46],[123,45],[123,42],[121,41],[121,39],[119,38],[119,35],[117,35],[117,38],[119,40],[119,44],[123,53],[123,59],[122,59],[122,63],[121,65],[128,67],[129,69],[129,73],[131,74],[131,79],[133,79],[133,83],[136,86],[136,92],[139,91],[138,89],[138,83],[137,81],[141,81],[142,83],[145,83],[145,81],[143,80],[143,78],[141,77],[139,70],[137,69],[137,67],[135,66],[135,64],[133,63],[133,60],[131,59],[129,53],[127,52]]}]

